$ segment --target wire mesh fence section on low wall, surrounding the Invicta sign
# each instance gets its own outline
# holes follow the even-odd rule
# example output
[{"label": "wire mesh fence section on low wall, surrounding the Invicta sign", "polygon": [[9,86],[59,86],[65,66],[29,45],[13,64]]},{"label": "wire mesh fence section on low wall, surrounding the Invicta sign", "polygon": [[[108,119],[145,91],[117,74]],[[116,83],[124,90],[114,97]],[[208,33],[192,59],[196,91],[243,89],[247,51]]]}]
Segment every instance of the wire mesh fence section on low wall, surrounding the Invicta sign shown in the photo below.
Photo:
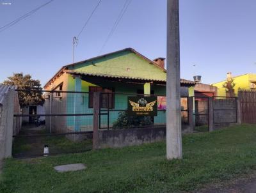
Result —
[{"label": "wire mesh fence section on low wall, surrounding the Invicta sign", "polygon": [[[157,116],[150,117],[151,123],[133,125],[134,127],[166,127],[166,96],[164,95],[144,95],[134,93],[100,93],[100,129],[116,128],[117,121],[127,118],[127,97],[128,96],[156,96],[157,97]],[[161,101],[163,100],[163,101]],[[161,106],[161,102],[163,105]],[[188,96],[181,96],[181,117],[182,123],[188,124]],[[131,125],[132,128],[133,127]],[[124,126],[125,128],[125,126]]]}]

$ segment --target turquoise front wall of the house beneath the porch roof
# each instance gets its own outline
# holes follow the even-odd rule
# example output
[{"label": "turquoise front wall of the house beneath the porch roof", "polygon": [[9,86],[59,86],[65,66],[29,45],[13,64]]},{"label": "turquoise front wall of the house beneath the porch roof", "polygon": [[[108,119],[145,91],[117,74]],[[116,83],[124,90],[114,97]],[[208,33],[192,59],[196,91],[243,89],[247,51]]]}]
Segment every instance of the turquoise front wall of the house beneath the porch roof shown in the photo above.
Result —
[{"label": "turquoise front wall of the house beneath the porch roof", "polygon": [[[68,91],[75,91],[75,79],[71,75],[68,75]],[[81,81],[81,91],[88,92],[89,86],[96,86],[90,82]],[[115,93],[130,93],[134,96],[137,94],[138,89],[143,89],[143,84],[124,84],[120,82],[101,82],[101,87],[114,88]],[[165,95],[164,86],[151,86],[151,90],[154,90],[155,95]],[[74,109],[76,95],[76,109]],[[127,96],[115,94],[115,109],[126,110],[127,109]],[[64,101],[63,101],[64,102]],[[93,113],[93,109],[88,107],[89,95],[88,93],[68,93],[67,94],[67,113],[68,114],[83,114],[83,113]],[[104,113],[102,111],[102,113]],[[109,125],[112,125],[114,121],[118,118],[118,112],[109,112]],[[107,127],[108,116],[100,116],[101,127]],[[77,123],[77,124],[74,124]],[[158,112],[157,116],[154,117],[154,123],[166,123],[166,113]],[[93,116],[68,116],[67,117],[67,127],[76,130],[92,130]],[[77,125],[79,125],[77,129]]]}]

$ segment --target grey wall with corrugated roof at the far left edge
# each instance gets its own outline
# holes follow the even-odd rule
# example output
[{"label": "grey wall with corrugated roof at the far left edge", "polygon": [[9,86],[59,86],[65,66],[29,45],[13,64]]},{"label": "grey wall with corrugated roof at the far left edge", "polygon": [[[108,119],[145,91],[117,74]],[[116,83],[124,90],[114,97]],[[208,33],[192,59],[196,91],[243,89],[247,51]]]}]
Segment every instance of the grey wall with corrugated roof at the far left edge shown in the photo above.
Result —
[{"label": "grey wall with corrugated roof at the far left edge", "polygon": [[14,86],[0,84],[0,159],[12,157],[12,135],[20,129],[20,118],[13,118],[20,112],[17,97]]}]

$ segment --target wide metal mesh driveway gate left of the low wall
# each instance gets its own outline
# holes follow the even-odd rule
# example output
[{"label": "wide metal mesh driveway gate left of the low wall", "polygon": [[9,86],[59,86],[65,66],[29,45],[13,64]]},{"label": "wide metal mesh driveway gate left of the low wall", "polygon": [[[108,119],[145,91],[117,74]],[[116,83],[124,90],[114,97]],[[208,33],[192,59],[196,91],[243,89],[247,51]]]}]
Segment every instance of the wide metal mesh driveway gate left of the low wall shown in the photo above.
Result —
[{"label": "wide metal mesh driveway gate left of the low wall", "polygon": [[[13,135],[13,157],[36,157],[92,150],[93,93],[73,91],[17,90],[31,102],[14,114],[22,121]],[[37,104],[38,93],[44,98]],[[35,102],[33,102],[35,101]],[[49,150],[49,153],[45,150]]]}]

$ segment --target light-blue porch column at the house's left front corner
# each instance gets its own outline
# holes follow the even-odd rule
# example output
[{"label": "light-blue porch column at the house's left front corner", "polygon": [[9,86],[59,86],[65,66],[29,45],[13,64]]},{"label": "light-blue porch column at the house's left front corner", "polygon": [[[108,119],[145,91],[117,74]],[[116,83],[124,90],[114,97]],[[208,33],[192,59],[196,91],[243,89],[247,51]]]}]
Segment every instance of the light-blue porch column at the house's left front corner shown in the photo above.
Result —
[{"label": "light-blue porch column at the house's left front corner", "polygon": [[[82,88],[82,81],[81,77],[75,77],[75,91],[81,92]],[[74,93],[74,114],[80,114],[80,107],[81,107],[81,93]],[[80,130],[81,125],[81,116],[74,116],[74,129],[75,132]]]}]

